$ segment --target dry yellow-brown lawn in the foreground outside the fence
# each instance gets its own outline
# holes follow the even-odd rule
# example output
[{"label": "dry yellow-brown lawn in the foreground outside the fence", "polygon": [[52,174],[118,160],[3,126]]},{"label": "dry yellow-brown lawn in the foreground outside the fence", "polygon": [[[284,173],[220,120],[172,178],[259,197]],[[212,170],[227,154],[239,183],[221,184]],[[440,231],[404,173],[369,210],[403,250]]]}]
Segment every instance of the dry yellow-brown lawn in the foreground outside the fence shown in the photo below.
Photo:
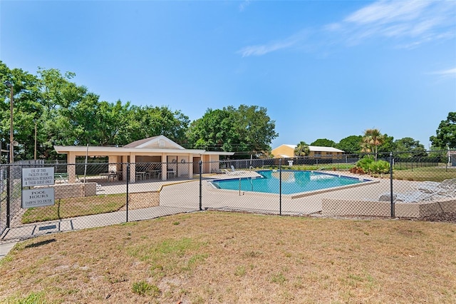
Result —
[{"label": "dry yellow-brown lawn in the foreground outside the fence", "polygon": [[19,243],[0,302],[455,303],[455,241],[452,223],[182,214]]}]

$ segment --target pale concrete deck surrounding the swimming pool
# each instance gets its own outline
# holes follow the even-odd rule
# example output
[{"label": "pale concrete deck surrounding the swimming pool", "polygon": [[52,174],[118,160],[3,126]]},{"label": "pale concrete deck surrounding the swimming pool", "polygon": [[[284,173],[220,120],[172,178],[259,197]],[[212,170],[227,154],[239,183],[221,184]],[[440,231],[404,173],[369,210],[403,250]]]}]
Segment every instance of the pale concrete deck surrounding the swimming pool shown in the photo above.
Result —
[{"label": "pale concrete deck surrounding the swimming pool", "polygon": [[[324,171],[319,171],[325,173]],[[258,193],[233,191],[214,188],[209,181],[225,178],[246,178],[259,176],[255,171],[237,171],[237,173],[224,173],[205,175],[202,178],[202,209],[221,209],[252,211],[259,213],[312,215],[322,211],[322,199],[332,198],[341,201],[378,201],[383,193],[388,193],[390,180],[388,178],[372,178],[371,176],[359,176],[348,172],[328,171],[329,174],[341,174],[352,178],[370,180],[365,183],[357,183],[340,188],[309,191],[294,195],[279,195],[274,193]],[[410,190],[414,182],[395,181],[395,188]],[[125,183],[103,183],[102,191],[98,194],[125,193]],[[175,208],[199,209],[199,179],[170,181],[139,181],[130,183],[130,193],[144,191],[160,191],[160,206]]]}]

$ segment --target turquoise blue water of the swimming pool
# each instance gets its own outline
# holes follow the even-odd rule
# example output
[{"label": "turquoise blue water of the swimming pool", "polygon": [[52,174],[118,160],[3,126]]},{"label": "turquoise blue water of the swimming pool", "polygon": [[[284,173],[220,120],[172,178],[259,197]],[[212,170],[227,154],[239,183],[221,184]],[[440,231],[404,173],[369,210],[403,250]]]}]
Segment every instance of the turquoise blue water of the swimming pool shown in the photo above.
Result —
[{"label": "turquoise blue water of the swimming pool", "polygon": [[[212,181],[217,188],[228,190],[254,191],[264,193],[279,193],[279,171],[257,171],[261,177],[229,178]],[[338,176],[314,171],[282,171],[282,194],[294,194],[307,191],[316,191],[334,188],[355,183],[363,183],[358,178]]]}]

